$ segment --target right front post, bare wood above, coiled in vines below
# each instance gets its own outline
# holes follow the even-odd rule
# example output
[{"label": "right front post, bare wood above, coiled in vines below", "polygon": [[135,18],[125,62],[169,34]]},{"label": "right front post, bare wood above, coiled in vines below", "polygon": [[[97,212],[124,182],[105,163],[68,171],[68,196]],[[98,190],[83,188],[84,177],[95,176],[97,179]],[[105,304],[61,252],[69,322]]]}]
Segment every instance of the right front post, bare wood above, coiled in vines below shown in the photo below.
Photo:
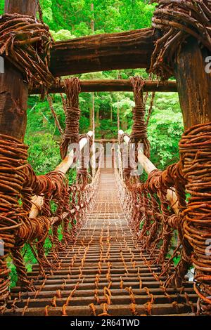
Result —
[{"label": "right front post, bare wood above, coiled in vines below", "polygon": [[[200,310],[198,312],[205,314],[211,313],[211,261],[207,254],[207,247],[209,247],[207,242],[211,242],[211,176],[210,157],[207,155],[211,152],[211,144],[206,145],[205,143],[205,140],[210,141],[210,126],[201,125],[198,130],[191,129],[191,127],[211,121],[211,70],[206,70],[206,59],[209,55],[210,50],[208,48],[202,47],[197,39],[189,37],[186,44],[177,53],[174,65],[184,127],[190,128],[180,145],[184,174],[188,181],[186,190],[191,192],[191,198],[188,200],[188,212],[184,218],[184,235],[193,248],[195,289],[200,297]],[[193,145],[190,143],[190,148],[188,148],[192,133],[193,136],[195,134],[196,136],[193,137]],[[182,142],[186,146],[182,145]],[[198,168],[196,168],[197,163]],[[191,169],[192,171],[190,171]],[[207,173],[203,177],[201,176],[202,171]],[[206,206],[205,203],[207,203]],[[193,208],[195,208],[194,211]],[[198,235],[201,236],[200,239],[198,239]]]}]

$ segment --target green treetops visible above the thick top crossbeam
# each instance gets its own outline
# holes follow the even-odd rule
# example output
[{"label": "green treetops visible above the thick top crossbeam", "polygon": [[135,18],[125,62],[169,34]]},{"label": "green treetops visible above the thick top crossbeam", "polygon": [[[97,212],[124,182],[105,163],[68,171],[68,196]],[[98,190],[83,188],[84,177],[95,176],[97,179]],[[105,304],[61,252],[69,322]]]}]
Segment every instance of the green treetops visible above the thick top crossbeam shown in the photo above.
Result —
[{"label": "green treetops visible above the thick top crossbeam", "polygon": [[149,27],[155,7],[145,0],[40,0],[40,4],[51,30],[66,29],[77,37],[93,33],[91,20],[97,34]]}]

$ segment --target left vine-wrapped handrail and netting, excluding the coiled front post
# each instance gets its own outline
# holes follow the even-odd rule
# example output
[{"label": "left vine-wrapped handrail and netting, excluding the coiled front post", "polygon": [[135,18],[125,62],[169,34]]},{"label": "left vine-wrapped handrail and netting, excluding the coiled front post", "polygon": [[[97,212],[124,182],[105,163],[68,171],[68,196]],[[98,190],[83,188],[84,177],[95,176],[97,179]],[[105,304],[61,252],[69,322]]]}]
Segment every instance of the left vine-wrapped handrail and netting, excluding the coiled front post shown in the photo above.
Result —
[{"label": "left vine-wrapped handrail and netting, excluding the coiled front post", "polygon": [[[89,131],[87,138],[82,137],[79,141],[80,150],[83,150],[92,136],[93,133]],[[82,180],[82,184],[69,185],[68,178],[65,176],[75,160],[74,150],[69,150],[67,157],[56,167],[56,170],[47,173],[45,176],[36,176],[32,166],[26,166],[23,205],[21,206],[23,223],[15,234],[17,244],[15,244],[11,254],[18,273],[18,280],[27,289],[34,290],[34,286],[27,277],[21,249],[25,243],[30,244],[32,253],[37,259],[44,276],[46,276],[45,268],[56,269],[59,267],[58,251],[63,251],[65,244],[71,244],[71,242],[74,244],[76,229],[78,231],[87,220],[87,211],[94,203],[101,173],[102,153],[103,150],[99,155],[99,166],[96,175],[91,180],[91,176],[87,171],[85,174],[87,179]],[[91,180],[90,183],[88,178]],[[33,194],[35,194],[34,197]],[[56,203],[56,211],[52,211],[50,202]],[[33,207],[31,207],[32,203],[35,204]],[[60,225],[63,242],[59,240],[58,228]],[[44,247],[47,237],[49,237],[52,244],[53,260],[50,261],[46,258]]]}]

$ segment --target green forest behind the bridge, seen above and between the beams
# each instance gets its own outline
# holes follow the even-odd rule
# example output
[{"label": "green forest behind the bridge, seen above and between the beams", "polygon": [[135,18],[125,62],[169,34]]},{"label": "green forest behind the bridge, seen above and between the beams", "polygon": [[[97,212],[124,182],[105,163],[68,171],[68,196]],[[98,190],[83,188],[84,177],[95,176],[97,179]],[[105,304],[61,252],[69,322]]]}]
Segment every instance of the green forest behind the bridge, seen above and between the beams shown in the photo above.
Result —
[{"label": "green forest behind the bridge, seen above and between the beams", "polygon": [[[123,32],[151,27],[155,5],[145,0],[40,0],[44,22],[56,41],[91,34]],[[4,0],[0,0],[4,13]],[[145,70],[119,70],[79,74],[79,79],[129,79],[134,75],[147,78]],[[81,93],[80,133],[92,128],[92,93]],[[96,138],[117,138],[117,110],[120,128],[130,133],[132,128],[133,93],[94,93]],[[149,104],[147,105],[147,107]],[[65,126],[60,95],[53,95],[53,107],[61,126]],[[177,161],[178,143],[183,121],[177,93],[157,93],[148,125],[151,160],[159,169]],[[32,95],[28,100],[27,133],[30,145],[29,161],[37,175],[53,170],[60,161],[59,132],[47,100]]]}]

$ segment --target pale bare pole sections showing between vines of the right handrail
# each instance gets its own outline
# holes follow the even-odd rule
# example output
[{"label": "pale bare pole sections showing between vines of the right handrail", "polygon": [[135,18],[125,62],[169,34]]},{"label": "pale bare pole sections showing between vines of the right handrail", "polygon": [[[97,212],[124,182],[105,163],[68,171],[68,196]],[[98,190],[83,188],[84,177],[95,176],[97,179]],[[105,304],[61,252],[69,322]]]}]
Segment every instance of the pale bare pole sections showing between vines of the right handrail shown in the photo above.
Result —
[{"label": "pale bare pole sections showing between vines of the right handrail", "polygon": [[[119,131],[120,136],[122,134],[124,134],[124,132],[122,130]],[[129,143],[129,137],[128,136],[124,136],[124,142],[125,143]],[[141,150],[139,150],[139,154],[138,154],[138,161],[139,164],[141,164],[141,166],[143,166],[143,169],[146,171],[146,173],[149,175],[152,171],[154,171],[155,169],[157,169],[155,167],[155,165],[150,161],[150,159],[148,159],[145,154],[143,154],[143,152],[141,152]],[[178,205],[178,199],[177,199],[177,195],[174,192],[174,188],[172,188],[171,190],[167,190],[167,195],[166,195],[167,201],[170,202],[170,205],[172,206],[172,210],[174,211],[174,213],[176,215],[179,214],[179,205]]]}]

